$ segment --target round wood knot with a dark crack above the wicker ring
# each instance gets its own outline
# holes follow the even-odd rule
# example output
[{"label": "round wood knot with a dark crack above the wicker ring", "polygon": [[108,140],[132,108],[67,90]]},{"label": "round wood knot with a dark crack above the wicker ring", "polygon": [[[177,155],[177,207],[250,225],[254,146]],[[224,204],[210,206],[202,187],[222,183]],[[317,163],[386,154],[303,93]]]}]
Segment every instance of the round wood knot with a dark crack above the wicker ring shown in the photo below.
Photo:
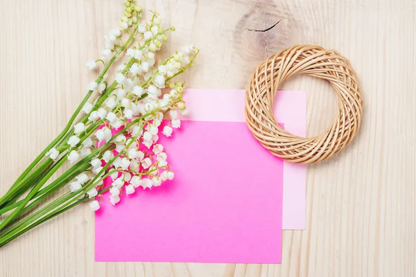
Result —
[{"label": "round wood knot with a dark crack above the wicker ring", "polygon": [[261,61],[299,42],[299,30],[287,8],[256,3],[243,15],[234,31],[234,47],[244,60]]}]

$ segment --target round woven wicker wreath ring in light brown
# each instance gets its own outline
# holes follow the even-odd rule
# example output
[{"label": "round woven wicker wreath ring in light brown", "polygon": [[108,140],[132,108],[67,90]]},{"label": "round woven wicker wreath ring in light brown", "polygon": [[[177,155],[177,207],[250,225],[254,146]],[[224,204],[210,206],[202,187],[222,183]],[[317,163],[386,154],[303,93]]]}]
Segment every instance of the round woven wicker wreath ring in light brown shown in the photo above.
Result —
[{"label": "round woven wicker wreath ring in light brown", "polygon": [[[273,116],[277,89],[295,74],[327,80],[337,93],[338,114],[319,136],[294,136]],[[320,46],[294,46],[268,57],[257,67],[245,93],[245,116],[253,136],[270,153],[293,163],[322,161],[339,152],[354,139],[362,115],[361,89],[349,60]]]}]

